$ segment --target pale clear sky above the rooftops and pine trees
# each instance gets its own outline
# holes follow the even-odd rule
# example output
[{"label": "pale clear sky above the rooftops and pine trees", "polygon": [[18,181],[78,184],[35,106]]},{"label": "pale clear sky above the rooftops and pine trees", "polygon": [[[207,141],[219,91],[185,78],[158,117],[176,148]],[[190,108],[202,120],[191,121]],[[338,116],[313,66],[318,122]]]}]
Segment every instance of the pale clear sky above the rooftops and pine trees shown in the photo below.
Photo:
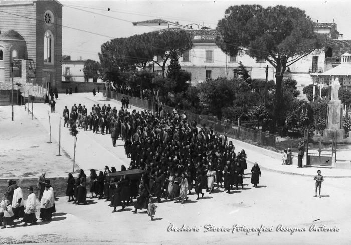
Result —
[{"label": "pale clear sky above the rooftops and pine trees", "polygon": [[63,55],[71,60],[99,61],[103,43],[121,37],[159,30],[133,26],[132,22],[152,19],[197,23],[212,29],[232,5],[259,4],[263,7],[285,5],[305,10],[314,22],[337,24],[343,39],[351,39],[351,1],[98,1],[59,0],[63,4]]}]

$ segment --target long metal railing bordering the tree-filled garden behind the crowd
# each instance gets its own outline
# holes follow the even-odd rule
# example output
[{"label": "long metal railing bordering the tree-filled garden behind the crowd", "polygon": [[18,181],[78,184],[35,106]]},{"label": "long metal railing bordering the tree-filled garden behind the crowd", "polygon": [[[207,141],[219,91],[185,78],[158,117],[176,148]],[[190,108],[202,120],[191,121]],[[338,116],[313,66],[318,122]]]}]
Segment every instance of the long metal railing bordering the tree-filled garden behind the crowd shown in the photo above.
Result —
[{"label": "long metal railing bordering the tree-filled garden behind the crowd", "polygon": [[[103,90],[103,96],[108,99],[115,99],[121,101],[123,97],[129,98],[129,104],[152,111],[152,102],[141,100],[135,97],[124,95],[121,93]],[[172,113],[174,107],[162,106],[166,111]],[[157,111],[157,103],[155,102],[155,111]],[[284,152],[284,149],[291,149],[292,155],[297,156],[298,146],[300,140],[280,137],[269,133],[264,133],[260,129],[250,129],[248,127],[237,126],[236,124],[226,123],[216,120],[214,117],[206,115],[198,115],[188,111],[177,109],[178,114],[181,116],[185,113],[188,121],[195,121],[198,125],[205,125],[212,127],[215,132],[226,133],[229,138],[240,140],[258,147],[266,148],[275,152]]]}]

